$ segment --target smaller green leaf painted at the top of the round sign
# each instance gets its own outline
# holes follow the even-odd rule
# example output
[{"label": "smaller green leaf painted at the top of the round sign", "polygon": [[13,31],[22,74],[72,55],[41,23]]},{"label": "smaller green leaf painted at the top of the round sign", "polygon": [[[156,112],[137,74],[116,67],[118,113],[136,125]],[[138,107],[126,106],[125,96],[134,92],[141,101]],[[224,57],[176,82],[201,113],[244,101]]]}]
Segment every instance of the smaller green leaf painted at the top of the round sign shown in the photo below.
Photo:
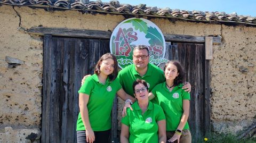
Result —
[{"label": "smaller green leaf painted at the top of the round sign", "polygon": [[132,23],[132,26],[134,26],[135,30],[140,30],[140,32],[144,32],[147,34],[148,26],[147,23],[140,19],[131,19],[128,21],[125,21],[124,23]]}]

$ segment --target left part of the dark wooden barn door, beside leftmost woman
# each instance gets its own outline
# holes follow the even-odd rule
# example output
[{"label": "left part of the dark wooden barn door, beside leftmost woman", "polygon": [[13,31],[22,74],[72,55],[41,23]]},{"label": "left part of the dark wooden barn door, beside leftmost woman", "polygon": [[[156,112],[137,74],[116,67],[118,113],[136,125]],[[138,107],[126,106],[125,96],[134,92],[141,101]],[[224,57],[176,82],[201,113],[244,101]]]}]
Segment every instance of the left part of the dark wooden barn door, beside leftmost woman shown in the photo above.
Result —
[{"label": "left part of the dark wooden barn door, beside leftmost woman", "polygon": [[45,35],[42,142],[76,142],[81,79],[109,52],[109,40]]}]

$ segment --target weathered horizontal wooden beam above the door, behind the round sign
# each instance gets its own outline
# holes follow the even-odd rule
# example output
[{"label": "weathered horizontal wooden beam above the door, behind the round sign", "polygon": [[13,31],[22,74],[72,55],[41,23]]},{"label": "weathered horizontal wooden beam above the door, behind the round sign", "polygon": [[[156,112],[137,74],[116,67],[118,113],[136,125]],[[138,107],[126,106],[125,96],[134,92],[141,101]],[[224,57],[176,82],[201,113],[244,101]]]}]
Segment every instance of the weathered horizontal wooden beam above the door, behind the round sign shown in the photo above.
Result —
[{"label": "weathered horizontal wooden beam above the door, behind the round sign", "polygon": [[[28,29],[27,33],[42,35],[42,36],[45,34],[50,34],[53,36],[110,39],[112,32],[99,31],[99,30],[85,30],[85,29],[34,27],[34,28]],[[174,41],[174,42],[205,43],[205,38],[203,36],[165,34],[164,38],[166,41]],[[220,37],[213,37],[213,44],[220,44],[220,43],[221,43]]]}]

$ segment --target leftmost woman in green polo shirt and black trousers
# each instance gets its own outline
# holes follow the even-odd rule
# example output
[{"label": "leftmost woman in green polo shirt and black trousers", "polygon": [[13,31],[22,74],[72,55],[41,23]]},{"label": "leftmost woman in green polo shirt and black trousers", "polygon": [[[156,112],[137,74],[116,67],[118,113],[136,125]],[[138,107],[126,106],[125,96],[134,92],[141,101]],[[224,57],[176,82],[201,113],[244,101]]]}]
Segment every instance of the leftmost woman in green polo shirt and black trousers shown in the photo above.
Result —
[{"label": "leftmost woman in green polo shirt and black trousers", "polygon": [[77,119],[77,142],[108,142],[115,95],[131,102],[135,100],[125,93],[116,78],[117,74],[116,57],[104,54],[95,65],[94,74],[86,78],[78,91],[80,113]]}]

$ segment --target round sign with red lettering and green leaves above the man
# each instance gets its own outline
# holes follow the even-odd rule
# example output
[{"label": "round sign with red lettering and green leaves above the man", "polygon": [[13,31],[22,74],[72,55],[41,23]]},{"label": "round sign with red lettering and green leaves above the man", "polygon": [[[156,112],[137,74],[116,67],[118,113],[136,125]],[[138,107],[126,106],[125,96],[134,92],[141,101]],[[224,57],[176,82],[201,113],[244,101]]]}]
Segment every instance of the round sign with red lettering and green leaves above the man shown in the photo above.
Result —
[{"label": "round sign with red lettering and green leaves above the man", "polygon": [[137,45],[148,47],[151,64],[158,66],[167,62],[162,31],[147,19],[131,18],[119,23],[110,38],[110,52],[116,56],[121,69],[133,63],[133,48]]}]

